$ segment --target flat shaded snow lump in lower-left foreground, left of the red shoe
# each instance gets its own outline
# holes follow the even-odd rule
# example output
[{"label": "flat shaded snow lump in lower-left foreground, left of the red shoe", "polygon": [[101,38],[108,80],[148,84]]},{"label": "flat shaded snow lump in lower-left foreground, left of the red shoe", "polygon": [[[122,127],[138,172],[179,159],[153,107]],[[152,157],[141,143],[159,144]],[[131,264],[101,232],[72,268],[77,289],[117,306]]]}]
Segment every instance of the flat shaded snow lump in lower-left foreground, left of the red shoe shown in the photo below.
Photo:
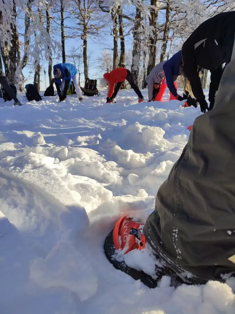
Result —
[{"label": "flat shaded snow lump in lower-left foreground, left of the red shoe", "polygon": [[58,242],[48,256],[34,260],[30,279],[44,288],[63,287],[76,293],[81,301],[97,292],[98,278],[89,261],[69,242]]}]

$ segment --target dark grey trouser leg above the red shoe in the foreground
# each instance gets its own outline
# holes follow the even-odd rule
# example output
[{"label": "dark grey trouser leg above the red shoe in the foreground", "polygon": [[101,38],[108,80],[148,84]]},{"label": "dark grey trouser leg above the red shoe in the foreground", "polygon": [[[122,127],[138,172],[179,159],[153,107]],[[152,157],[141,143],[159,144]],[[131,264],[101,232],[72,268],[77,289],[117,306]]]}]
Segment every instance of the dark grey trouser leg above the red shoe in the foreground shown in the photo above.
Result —
[{"label": "dark grey trouser leg above the red shoe in the foreground", "polygon": [[196,118],[187,145],[159,188],[144,235],[174,269],[222,280],[235,272],[235,59],[214,109]]}]

